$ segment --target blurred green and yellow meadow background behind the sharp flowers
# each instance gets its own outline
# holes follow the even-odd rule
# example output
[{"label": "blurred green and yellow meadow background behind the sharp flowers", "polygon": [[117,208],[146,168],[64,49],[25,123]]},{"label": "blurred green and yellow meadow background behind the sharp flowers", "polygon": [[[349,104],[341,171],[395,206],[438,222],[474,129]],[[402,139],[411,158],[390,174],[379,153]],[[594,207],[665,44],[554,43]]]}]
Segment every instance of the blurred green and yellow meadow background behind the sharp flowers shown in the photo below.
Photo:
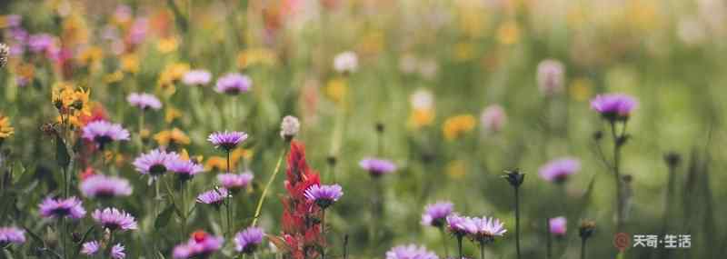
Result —
[{"label": "blurred green and yellow meadow background behind the sharp flowers", "polygon": [[[589,100],[633,95],[640,104],[622,156],[622,172],[632,176],[626,230],[660,234],[667,218],[668,232],[692,234],[692,248],[673,250],[672,258],[720,258],[727,247],[723,1],[53,0],[2,1],[0,13],[2,42],[11,46],[0,70],[0,114],[15,128],[2,144],[0,224],[24,225],[51,245],[53,224],[38,220],[37,204],[57,190],[59,171],[53,138],[40,127],[55,122],[51,89],[65,82],[90,90],[96,107],[133,139],[141,134],[147,146],[159,145],[161,132],[181,130],[188,140],[178,148],[205,164],[192,184],[195,194],[224,169],[223,154],[206,142],[207,134],[250,134],[234,156],[234,170],[255,175],[254,188],[239,200],[240,221],[253,215],[284,146],[281,118],[296,115],[309,163],[325,183],[344,187],[344,198],[328,214],[328,236],[334,254],[342,254],[349,235],[351,258],[382,258],[393,245],[408,243],[442,254],[439,233],[420,224],[423,206],[438,200],[452,201],[463,214],[502,219],[509,232],[487,253],[514,258],[513,192],[501,177],[514,168],[526,174],[524,258],[544,258],[544,220],[557,215],[569,221],[568,235],[553,241],[562,258],[577,256],[581,219],[597,224],[589,257],[612,258],[615,192],[598,151],[600,143],[610,154],[611,140],[608,134],[594,140],[608,128]],[[57,51],[33,53],[15,37],[17,27],[51,35]],[[358,69],[341,74],[334,57],[346,51],[358,56]],[[537,80],[546,59],[564,68],[563,89],[553,95]],[[184,85],[179,79],[190,68],[214,78],[244,73],[253,90],[233,97],[215,93],[214,83]],[[125,101],[132,92],[152,93],[164,103],[145,113],[141,132],[138,110]],[[481,120],[490,105],[506,115],[498,130]],[[377,124],[384,128],[381,137]],[[665,199],[667,152],[682,158],[672,200]],[[124,243],[131,258],[156,258],[148,240],[161,240],[169,254],[181,237],[174,219],[154,227],[155,215],[148,213],[153,190],[131,166],[137,154],[134,141],[119,144],[105,154],[110,165],[95,169],[134,183],[132,196],[113,202],[140,223]],[[371,155],[399,166],[383,178],[381,218],[367,213],[372,180],[358,165]],[[580,159],[582,170],[559,188],[537,171],[562,156]],[[79,164],[75,174],[83,170]],[[274,184],[261,219],[273,234],[280,229],[282,181]],[[667,203],[674,211],[665,214]],[[192,228],[214,231],[213,218],[200,208]],[[367,239],[372,222],[383,229],[375,242]],[[25,245],[25,254],[33,254],[32,246]],[[465,249],[476,254],[472,244]],[[622,256],[657,258],[656,252],[634,248]]]}]

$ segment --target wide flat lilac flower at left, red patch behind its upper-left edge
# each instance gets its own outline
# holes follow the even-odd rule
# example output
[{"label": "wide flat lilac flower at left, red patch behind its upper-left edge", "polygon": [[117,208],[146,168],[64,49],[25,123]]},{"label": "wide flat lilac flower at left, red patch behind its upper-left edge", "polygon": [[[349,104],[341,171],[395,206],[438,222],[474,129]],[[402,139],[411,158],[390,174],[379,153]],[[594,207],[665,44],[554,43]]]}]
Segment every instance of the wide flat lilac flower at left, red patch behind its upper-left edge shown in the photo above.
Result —
[{"label": "wide flat lilac flower at left, red patch behind its upper-left edge", "polygon": [[132,193],[129,181],[115,176],[94,174],[86,178],[78,186],[81,194],[89,198],[110,198],[116,196],[128,196]]}]

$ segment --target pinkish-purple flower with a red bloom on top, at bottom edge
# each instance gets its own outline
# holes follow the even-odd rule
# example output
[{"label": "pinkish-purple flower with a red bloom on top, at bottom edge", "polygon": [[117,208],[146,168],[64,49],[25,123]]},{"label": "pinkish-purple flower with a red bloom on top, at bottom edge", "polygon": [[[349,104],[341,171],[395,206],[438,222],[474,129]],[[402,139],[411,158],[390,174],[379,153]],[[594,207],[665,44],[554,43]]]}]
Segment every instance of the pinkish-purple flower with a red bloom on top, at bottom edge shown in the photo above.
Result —
[{"label": "pinkish-purple flower with a red bloom on top, at bottom edge", "polygon": [[175,259],[207,258],[210,254],[220,250],[223,243],[224,238],[222,236],[213,236],[203,231],[196,231],[189,241],[174,246],[172,255]]}]

